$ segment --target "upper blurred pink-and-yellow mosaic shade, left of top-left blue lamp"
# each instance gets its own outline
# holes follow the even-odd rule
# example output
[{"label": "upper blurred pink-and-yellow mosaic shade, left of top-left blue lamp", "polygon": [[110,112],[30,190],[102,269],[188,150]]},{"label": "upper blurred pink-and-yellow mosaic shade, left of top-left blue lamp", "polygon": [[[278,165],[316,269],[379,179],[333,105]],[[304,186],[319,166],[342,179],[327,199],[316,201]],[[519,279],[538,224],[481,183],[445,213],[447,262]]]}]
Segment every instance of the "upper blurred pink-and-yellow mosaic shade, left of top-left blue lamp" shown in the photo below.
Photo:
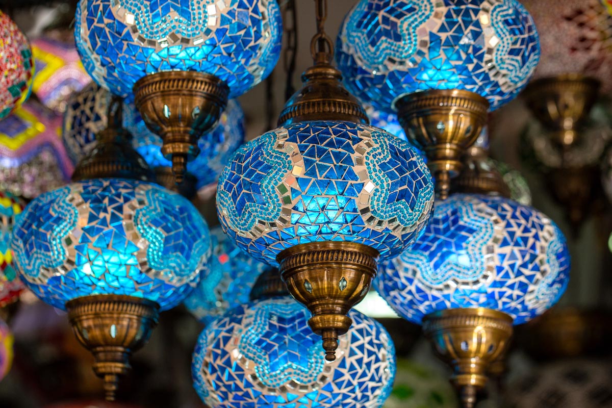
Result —
[{"label": "upper blurred pink-and-yellow mosaic shade, left of top-left blue lamp", "polygon": [[43,105],[59,114],[65,111],[70,94],[91,82],[71,40],[64,42],[48,36],[32,41],[35,68],[32,91]]}]

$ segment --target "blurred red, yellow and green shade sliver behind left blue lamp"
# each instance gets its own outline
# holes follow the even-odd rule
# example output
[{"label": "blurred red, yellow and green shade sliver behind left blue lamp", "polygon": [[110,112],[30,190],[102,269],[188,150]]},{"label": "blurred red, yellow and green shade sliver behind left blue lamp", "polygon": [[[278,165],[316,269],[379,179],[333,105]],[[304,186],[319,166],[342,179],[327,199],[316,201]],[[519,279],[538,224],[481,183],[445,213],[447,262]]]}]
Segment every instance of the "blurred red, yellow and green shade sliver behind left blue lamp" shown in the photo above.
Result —
[{"label": "blurred red, yellow and green shade sliver behind left blue lamp", "polygon": [[0,308],[15,302],[25,287],[13,267],[13,251],[10,249],[15,219],[25,206],[22,199],[0,191]]}]

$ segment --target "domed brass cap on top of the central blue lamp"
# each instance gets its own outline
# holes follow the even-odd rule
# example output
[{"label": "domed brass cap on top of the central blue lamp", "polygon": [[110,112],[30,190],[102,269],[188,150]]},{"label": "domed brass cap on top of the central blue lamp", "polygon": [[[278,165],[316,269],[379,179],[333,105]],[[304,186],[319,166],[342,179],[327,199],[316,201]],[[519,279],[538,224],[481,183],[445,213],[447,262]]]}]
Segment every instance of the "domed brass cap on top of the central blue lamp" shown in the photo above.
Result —
[{"label": "domed brass cap on top of the central blue lamp", "polygon": [[308,68],[304,86],[285,105],[278,126],[306,121],[345,121],[369,124],[364,107],[342,86],[340,71],[325,62]]}]

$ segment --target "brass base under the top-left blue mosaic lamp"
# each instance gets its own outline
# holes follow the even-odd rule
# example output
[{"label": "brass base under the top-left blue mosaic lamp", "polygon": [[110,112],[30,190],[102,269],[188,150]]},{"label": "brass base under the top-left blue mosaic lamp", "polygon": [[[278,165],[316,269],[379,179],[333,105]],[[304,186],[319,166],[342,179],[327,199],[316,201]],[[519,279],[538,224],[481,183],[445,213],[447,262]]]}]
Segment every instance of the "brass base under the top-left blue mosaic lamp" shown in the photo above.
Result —
[{"label": "brass base under the top-left blue mosaic lamp", "polygon": [[187,161],[198,155],[198,139],[209,132],[228,102],[230,88],[214,75],[194,71],[157,72],[134,84],[134,102],[151,132],[163,140],[181,183]]}]

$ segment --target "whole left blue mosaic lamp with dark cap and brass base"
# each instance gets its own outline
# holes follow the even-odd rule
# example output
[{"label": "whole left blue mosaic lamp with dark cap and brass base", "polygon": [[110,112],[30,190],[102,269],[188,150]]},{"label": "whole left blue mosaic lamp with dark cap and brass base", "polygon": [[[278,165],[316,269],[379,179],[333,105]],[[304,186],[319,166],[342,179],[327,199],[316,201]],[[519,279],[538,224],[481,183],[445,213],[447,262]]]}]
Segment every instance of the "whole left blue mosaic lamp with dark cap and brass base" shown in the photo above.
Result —
[{"label": "whole left blue mosaic lamp with dark cap and brass base", "polygon": [[34,199],[12,240],[21,279],[68,311],[108,400],[159,311],[185,299],[211,256],[206,222],[187,199],[149,182],[151,171],[121,128],[121,111],[115,98],[108,128],[72,184]]}]

